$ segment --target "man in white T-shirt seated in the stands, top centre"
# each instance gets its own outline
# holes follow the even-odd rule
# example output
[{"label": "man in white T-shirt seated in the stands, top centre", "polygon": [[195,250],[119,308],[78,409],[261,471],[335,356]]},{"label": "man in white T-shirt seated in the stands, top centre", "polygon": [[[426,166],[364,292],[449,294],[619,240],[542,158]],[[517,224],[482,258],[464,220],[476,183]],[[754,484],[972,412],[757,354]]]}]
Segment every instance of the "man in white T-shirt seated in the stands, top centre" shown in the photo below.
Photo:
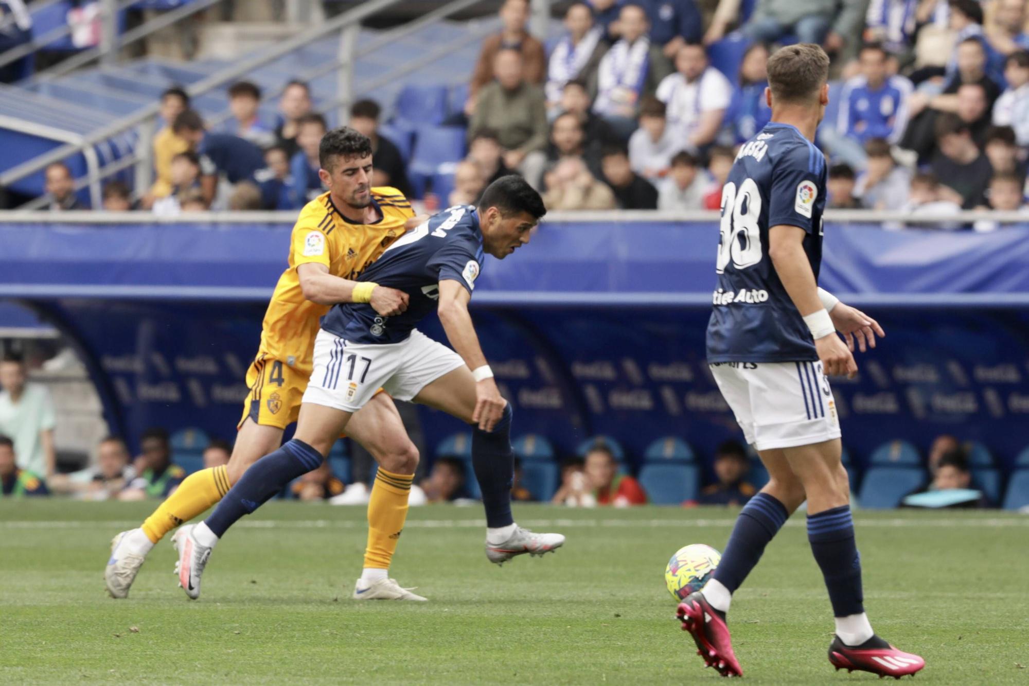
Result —
[{"label": "man in white T-shirt seated in the stands, top centre", "polygon": [[708,64],[700,43],[686,43],[675,56],[676,73],[662,79],[658,99],[668,106],[668,126],[690,151],[702,150],[721,129],[733,87]]}]

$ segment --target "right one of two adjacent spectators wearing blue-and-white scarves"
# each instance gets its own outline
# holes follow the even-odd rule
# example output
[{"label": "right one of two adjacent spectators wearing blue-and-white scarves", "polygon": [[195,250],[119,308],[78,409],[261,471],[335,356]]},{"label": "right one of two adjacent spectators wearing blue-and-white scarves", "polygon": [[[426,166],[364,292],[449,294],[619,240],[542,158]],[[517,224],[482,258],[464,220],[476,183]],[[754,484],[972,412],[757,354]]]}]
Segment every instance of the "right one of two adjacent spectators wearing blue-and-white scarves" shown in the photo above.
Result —
[{"label": "right one of two adjacent spectators wearing blue-and-white scarves", "polygon": [[639,5],[625,5],[618,15],[622,38],[611,46],[597,69],[593,110],[607,119],[626,140],[636,130],[640,99],[652,95],[668,75],[661,47],[650,44],[646,13]]}]

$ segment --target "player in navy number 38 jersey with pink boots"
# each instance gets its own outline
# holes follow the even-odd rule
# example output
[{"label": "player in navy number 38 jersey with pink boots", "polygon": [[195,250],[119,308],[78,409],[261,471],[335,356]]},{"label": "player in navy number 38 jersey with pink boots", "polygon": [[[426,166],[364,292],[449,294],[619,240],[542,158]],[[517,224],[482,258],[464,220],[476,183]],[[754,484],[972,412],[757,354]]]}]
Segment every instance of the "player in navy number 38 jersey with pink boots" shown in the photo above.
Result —
[{"label": "player in navy number 38 jersey with pink boots", "polygon": [[790,45],[772,56],[766,91],[772,121],[740,148],[721,196],[708,364],[771,476],[740,512],[712,579],[677,612],[698,654],[722,676],[743,674],[725,623],[733,592],[805,500],[808,540],[836,617],[829,661],[838,670],[898,679],[925,666],[918,655],[876,636],[862,604],[850,484],[827,375],[854,376],[854,340],[864,351],[883,331],[817,286],[825,158],[811,141],[828,103],[828,68],[818,45]]}]

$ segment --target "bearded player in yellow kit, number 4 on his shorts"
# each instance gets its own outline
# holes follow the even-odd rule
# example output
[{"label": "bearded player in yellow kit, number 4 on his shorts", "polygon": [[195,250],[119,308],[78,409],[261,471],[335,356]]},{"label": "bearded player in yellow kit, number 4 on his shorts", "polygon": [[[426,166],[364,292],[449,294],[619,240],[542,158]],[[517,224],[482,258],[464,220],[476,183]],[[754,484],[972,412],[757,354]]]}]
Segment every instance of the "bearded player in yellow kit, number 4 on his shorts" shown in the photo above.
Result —
[{"label": "bearded player in yellow kit, number 4 on his shorts", "polygon": [[[411,204],[395,188],[370,187],[371,141],[356,131],[328,132],[319,155],[318,173],[328,193],[308,203],[293,227],[289,267],[272,296],[260,348],[247,372],[250,393],[232,459],[189,475],[142,526],[114,538],[104,574],[112,597],[128,596],[146,554],[165,535],[220,501],[247,468],[282,443],[299,413],[319,319],[330,305],[368,303],[384,317],[407,307],[406,294],[354,279],[417,224]],[[387,574],[407,516],[418,449],[384,392],[355,414],[347,434],[379,462],[368,502],[364,571],[354,597],[424,601]]]}]

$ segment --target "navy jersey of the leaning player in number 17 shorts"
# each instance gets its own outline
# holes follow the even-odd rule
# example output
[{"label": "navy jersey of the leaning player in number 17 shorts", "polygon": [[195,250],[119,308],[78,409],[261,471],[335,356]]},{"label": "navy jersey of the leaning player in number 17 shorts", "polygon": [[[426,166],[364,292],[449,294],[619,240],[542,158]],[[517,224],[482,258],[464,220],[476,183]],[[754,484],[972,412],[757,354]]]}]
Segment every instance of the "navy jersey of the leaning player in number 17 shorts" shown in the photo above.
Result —
[{"label": "navy jersey of the leaning player in number 17 shorts", "polygon": [[403,290],[406,311],[384,317],[367,303],[340,303],[322,317],[322,329],[349,343],[399,343],[436,309],[440,281],[453,279],[471,293],[482,271],[478,213],[456,205],[397,239],[357,279]]}]

